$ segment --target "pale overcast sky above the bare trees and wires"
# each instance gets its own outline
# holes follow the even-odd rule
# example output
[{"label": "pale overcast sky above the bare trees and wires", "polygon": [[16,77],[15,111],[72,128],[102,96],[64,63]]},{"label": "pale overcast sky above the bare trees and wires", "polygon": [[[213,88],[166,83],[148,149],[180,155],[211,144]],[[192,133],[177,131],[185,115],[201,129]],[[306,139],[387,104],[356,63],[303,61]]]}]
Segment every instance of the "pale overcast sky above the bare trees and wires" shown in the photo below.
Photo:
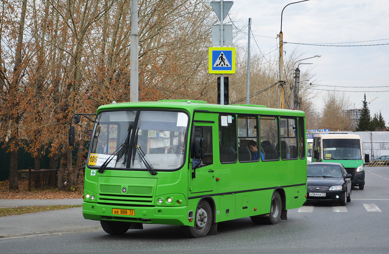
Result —
[{"label": "pale overcast sky above the bare trees and wires", "polygon": [[[263,54],[276,48],[278,39],[275,38],[281,28],[282,9],[293,2],[298,1],[234,1],[229,14],[234,13],[242,20],[242,23],[235,25],[245,26],[248,19],[252,19],[251,52],[259,52],[253,37]],[[226,21],[230,21],[228,17]],[[230,22],[224,22],[226,23]],[[245,31],[247,33],[247,28]],[[287,55],[298,47],[302,52],[307,52],[301,59],[321,55],[320,58],[299,62],[313,63],[309,67],[314,67],[312,72],[316,73],[315,83],[319,86],[315,89],[324,89],[315,91],[320,91],[321,95],[326,95],[326,90],[335,88],[337,91],[352,91],[346,95],[350,96],[351,108],[354,108],[355,103],[357,109],[362,108],[363,91],[366,91],[367,102],[378,97],[368,105],[371,117],[381,110],[387,126],[389,126],[389,45],[350,45],[389,44],[388,31],[388,0],[309,0],[288,5],[282,14],[283,39],[284,42],[289,42],[284,44],[286,51],[284,54]],[[340,45],[347,47],[338,47]],[[303,71],[308,65],[300,65],[299,68]],[[323,107],[320,96],[315,103],[318,109]]]}]

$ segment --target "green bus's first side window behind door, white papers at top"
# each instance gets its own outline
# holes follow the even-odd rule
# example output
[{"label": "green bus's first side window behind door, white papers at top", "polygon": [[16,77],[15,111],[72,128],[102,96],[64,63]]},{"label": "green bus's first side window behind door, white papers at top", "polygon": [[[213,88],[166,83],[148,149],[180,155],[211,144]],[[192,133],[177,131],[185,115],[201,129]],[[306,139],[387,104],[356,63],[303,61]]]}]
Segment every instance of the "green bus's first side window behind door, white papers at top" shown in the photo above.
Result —
[{"label": "green bus's first side window behind door, white papers at top", "polygon": [[219,115],[220,162],[237,161],[237,132],[235,115]]}]

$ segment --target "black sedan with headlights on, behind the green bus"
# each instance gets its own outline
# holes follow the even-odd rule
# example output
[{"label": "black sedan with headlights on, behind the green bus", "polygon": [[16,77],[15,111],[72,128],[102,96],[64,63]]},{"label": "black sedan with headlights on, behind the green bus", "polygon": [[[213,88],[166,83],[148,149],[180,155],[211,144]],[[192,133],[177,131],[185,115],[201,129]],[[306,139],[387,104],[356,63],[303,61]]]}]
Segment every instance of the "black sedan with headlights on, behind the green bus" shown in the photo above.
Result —
[{"label": "black sedan with headlights on, behind the green bus", "polygon": [[312,162],[307,168],[307,201],[351,201],[351,174],[341,163]]}]

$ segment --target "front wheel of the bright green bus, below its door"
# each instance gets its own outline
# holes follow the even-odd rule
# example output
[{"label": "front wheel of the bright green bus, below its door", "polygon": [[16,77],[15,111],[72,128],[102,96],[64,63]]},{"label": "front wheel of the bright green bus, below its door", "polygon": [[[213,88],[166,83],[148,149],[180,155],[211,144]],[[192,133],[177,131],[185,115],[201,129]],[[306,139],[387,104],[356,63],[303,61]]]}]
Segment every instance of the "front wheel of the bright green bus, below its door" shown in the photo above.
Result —
[{"label": "front wheel of the bright green bus, below its door", "polygon": [[182,226],[184,234],[188,237],[204,237],[208,234],[212,225],[212,209],[205,200],[200,201],[196,208],[195,226]]}]

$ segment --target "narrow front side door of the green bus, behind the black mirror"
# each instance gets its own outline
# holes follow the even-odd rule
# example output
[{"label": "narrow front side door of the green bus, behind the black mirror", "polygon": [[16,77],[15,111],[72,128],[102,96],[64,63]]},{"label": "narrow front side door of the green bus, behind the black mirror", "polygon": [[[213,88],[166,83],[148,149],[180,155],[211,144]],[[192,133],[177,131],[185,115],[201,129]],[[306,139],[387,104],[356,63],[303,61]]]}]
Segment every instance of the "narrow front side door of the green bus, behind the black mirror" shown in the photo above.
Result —
[{"label": "narrow front side door of the green bus, behind the black mirror", "polygon": [[[193,159],[189,163],[189,192],[202,193],[214,190],[214,164],[212,152],[212,126],[195,125],[192,133],[192,145],[195,138],[204,138],[204,159]],[[191,154],[193,158],[193,154]]]}]

